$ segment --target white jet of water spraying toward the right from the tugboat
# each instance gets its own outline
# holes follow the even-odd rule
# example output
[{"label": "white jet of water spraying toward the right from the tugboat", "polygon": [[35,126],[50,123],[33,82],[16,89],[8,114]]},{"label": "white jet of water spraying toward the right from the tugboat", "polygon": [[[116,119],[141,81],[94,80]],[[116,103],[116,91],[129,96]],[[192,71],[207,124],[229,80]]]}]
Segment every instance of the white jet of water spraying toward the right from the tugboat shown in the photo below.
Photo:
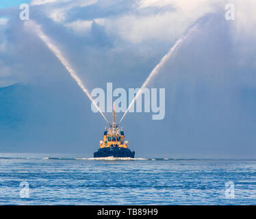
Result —
[{"label": "white jet of water spraying toward the right from the tugboat", "polygon": [[194,31],[194,29],[196,29],[197,25],[194,25],[193,27],[191,27],[188,32],[186,34],[184,34],[183,36],[181,36],[181,38],[179,38],[175,44],[170,48],[170,50],[168,51],[168,53],[166,53],[166,55],[164,55],[164,57],[162,57],[162,60],[157,64],[157,66],[155,66],[155,68],[153,68],[153,70],[151,71],[151,73],[149,74],[149,77],[147,77],[146,81],[144,81],[144,83],[142,84],[140,90],[138,90],[138,92],[136,93],[136,96],[133,97],[131,103],[129,104],[127,110],[125,111],[125,114],[123,114],[122,118],[120,119],[118,125],[121,123],[121,121],[123,120],[123,118],[125,117],[125,115],[127,114],[127,112],[130,110],[131,106],[134,104],[134,102],[136,101],[136,99],[138,99],[138,97],[140,96],[143,88],[146,88],[147,84],[149,83],[149,81],[151,81],[151,79],[157,75],[157,73],[159,73],[160,68],[162,68],[162,66],[164,66],[165,62],[170,58],[170,56],[172,55],[172,53],[175,51],[175,49],[179,46],[179,44],[181,44],[181,42],[183,42],[183,40],[185,40],[185,38],[188,38],[188,36],[190,36],[190,34],[192,33],[192,31]]}]

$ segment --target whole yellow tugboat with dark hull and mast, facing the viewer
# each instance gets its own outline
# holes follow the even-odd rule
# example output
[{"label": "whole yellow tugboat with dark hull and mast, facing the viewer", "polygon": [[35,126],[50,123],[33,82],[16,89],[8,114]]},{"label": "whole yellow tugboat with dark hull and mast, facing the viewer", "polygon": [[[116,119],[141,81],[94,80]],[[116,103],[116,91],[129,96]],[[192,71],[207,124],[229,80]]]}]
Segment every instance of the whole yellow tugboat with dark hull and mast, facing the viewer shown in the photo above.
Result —
[{"label": "whole yellow tugboat with dark hull and mast, facing the viewer", "polygon": [[103,140],[99,141],[99,149],[94,152],[94,157],[131,157],[134,158],[135,152],[128,149],[128,141],[125,141],[123,127],[118,128],[115,123],[115,108],[112,110],[113,122],[107,130],[105,127]]}]

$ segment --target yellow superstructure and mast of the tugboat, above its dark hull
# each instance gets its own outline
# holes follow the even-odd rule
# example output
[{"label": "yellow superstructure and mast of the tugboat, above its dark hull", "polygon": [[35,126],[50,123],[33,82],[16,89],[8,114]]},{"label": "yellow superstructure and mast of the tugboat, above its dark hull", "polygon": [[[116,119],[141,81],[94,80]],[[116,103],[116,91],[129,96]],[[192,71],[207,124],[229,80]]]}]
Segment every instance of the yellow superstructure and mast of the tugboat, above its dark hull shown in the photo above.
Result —
[{"label": "yellow superstructure and mast of the tugboat, above its dark hull", "polygon": [[117,146],[119,148],[127,149],[128,141],[125,141],[123,128],[119,129],[115,123],[116,113],[114,110],[114,105],[113,105],[112,116],[113,116],[113,123],[112,125],[110,125],[110,129],[107,130],[107,128],[105,128],[103,140],[100,140],[99,147],[102,149],[106,147]]}]

